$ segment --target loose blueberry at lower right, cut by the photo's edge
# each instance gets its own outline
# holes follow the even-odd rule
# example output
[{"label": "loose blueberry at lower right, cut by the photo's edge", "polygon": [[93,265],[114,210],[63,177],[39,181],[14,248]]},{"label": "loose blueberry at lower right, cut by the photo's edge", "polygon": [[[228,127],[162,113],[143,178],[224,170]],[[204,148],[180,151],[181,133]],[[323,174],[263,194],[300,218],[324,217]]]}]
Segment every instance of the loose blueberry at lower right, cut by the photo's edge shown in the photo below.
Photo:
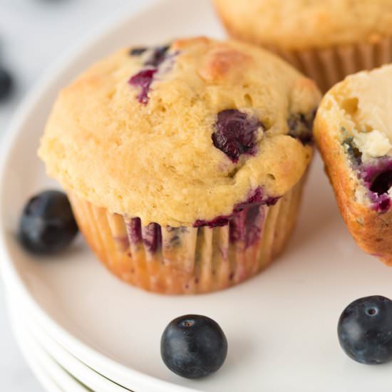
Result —
[{"label": "loose blueberry at lower right, cut by the photo's edge", "polygon": [[342,349],[354,361],[392,361],[392,301],[374,295],[351,302],[340,316],[338,336]]}]

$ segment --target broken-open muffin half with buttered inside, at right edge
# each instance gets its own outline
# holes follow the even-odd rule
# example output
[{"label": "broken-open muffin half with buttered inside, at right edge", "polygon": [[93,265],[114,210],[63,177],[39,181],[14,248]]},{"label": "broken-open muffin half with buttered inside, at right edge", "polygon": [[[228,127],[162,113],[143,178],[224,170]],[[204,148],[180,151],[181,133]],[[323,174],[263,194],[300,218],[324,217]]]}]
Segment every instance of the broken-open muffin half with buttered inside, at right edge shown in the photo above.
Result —
[{"label": "broken-open muffin half with buttered inside, at right edge", "polygon": [[314,136],[349,231],[392,265],[392,66],[348,76],[324,96]]}]

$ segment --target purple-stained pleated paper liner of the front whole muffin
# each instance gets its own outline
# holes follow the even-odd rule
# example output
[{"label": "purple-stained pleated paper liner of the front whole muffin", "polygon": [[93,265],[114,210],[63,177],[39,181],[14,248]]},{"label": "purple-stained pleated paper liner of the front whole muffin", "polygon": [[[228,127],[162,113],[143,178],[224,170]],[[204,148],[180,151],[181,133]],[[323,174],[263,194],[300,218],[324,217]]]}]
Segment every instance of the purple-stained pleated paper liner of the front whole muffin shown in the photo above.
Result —
[{"label": "purple-stained pleated paper liner of the front whole muffin", "polygon": [[151,292],[197,294],[238,284],[282,252],[304,177],[275,205],[244,208],[228,225],[213,228],[143,226],[139,218],[68,196],[81,232],[110,272]]}]

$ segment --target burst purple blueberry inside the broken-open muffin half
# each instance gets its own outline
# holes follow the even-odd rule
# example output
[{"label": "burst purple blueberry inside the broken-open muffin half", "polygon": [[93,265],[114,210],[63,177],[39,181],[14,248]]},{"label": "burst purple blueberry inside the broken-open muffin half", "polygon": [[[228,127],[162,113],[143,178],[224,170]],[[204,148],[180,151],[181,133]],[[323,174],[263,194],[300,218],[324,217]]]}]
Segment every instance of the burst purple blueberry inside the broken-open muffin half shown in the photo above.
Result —
[{"label": "burst purple blueberry inside the broken-open muffin half", "polygon": [[388,211],[391,207],[391,197],[388,195],[388,190],[392,187],[392,160],[378,158],[375,164],[361,165],[359,177],[368,188],[368,195],[373,202],[373,210],[377,212]]}]

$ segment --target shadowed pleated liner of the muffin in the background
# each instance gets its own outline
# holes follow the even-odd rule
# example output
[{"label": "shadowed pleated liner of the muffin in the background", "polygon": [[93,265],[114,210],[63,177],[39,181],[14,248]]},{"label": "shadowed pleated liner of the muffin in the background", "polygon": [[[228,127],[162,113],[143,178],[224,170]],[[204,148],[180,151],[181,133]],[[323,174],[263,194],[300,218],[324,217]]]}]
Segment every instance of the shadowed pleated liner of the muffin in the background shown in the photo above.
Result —
[{"label": "shadowed pleated liner of the muffin in the background", "polygon": [[347,75],[391,63],[392,38],[374,43],[354,43],[324,49],[288,51],[273,46],[270,51],[316,81],[324,93]]}]

